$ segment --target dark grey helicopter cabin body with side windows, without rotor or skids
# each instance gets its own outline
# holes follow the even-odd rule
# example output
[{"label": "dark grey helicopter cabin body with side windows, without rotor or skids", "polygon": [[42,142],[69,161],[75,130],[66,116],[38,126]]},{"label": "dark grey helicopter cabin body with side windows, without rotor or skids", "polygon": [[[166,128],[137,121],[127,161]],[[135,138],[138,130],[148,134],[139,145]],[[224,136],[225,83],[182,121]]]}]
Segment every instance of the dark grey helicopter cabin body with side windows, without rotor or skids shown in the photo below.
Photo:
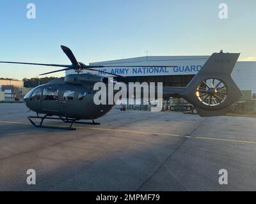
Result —
[{"label": "dark grey helicopter cabin body with side windows, without rotor or skids", "polygon": [[58,115],[72,119],[97,119],[114,105],[95,105],[92,86],[74,85],[58,78],[40,85],[24,97],[26,106],[36,113]]}]

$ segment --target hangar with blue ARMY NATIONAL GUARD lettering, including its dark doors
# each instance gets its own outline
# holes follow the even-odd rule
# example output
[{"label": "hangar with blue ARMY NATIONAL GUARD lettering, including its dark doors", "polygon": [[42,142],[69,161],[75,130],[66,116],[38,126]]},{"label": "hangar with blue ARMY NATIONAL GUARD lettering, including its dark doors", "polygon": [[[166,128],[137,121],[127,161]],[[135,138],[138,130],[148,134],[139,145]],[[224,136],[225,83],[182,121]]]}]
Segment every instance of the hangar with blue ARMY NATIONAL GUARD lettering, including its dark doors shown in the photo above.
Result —
[{"label": "hangar with blue ARMY NATIONAL GUARD lettering, including its dark doors", "polygon": [[[113,61],[93,62],[90,65],[108,65],[113,68],[102,68],[99,72],[84,71],[108,77],[100,73],[108,71],[127,78],[115,77],[122,82],[163,82],[164,86],[186,86],[209,59],[209,55],[197,56],[145,56]],[[155,68],[118,68],[118,66],[155,66]],[[176,68],[161,68],[161,66],[178,66]],[[66,75],[74,73],[66,71]],[[256,61],[237,61],[232,72],[232,78],[241,90],[250,90],[256,96]]]}]

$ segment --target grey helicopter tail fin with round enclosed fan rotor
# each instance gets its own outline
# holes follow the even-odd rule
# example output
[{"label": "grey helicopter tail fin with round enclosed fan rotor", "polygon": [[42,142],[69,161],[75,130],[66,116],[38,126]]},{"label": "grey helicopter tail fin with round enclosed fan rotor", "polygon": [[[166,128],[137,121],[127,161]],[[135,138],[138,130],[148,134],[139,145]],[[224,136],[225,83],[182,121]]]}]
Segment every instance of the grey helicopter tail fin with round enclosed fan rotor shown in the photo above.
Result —
[{"label": "grey helicopter tail fin with round enclosed fan rotor", "polygon": [[200,116],[225,115],[227,107],[241,97],[231,78],[240,54],[214,53],[189,82],[182,95],[192,103]]}]

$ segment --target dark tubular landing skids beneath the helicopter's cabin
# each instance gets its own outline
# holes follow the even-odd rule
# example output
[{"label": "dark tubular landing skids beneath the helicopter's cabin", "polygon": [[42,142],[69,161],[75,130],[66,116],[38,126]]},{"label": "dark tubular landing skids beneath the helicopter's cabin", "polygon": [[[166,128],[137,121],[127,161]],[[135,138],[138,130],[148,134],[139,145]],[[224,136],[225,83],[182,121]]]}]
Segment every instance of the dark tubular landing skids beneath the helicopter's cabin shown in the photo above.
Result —
[{"label": "dark tubular landing skids beneath the helicopter's cabin", "polygon": [[[35,124],[35,122],[32,119],[41,119],[41,122],[39,125]],[[62,126],[43,126],[44,120],[45,119],[49,119],[49,120],[62,120],[65,123],[70,123],[69,127],[62,127]],[[63,119],[63,117],[50,117],[50,115],[44,115],[44,117],[40,117],[40,116],[28,116],[28,120],[29,122],[31,122],[31,124],[33,126],[35,126],[36,128],[51,128],[51,129],[66,129],[66,130],[76,130],[76,128],[72,128],[73,125],[75,123],[77,124],[93,124],[93,125],[99,125],[100,123],[95,122],[95,120],[92,119],[93,122],[78,122],[76,119],[69,119],[69,118],[65,118]]]}]

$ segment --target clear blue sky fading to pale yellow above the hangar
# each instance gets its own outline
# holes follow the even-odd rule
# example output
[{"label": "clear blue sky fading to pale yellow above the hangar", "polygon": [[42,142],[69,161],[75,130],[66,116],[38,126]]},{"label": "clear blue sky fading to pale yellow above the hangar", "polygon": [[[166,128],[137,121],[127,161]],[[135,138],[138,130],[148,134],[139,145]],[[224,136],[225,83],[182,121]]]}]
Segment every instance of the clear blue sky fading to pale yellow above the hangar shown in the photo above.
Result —
[{"label": "clear blue sky fading to pale yellow above the hangar", "polygon": [[[26,18],[28,3],[36,19]],[[228,19],[218,5],[228,4]],[[69,64],[145,55],[241,52],[256,60],[255,0],[1,0],[0,61]],[[0,77],[37,77],[55,68],[0,64]],[[58,73],[52,76],[65,75]]]}]

